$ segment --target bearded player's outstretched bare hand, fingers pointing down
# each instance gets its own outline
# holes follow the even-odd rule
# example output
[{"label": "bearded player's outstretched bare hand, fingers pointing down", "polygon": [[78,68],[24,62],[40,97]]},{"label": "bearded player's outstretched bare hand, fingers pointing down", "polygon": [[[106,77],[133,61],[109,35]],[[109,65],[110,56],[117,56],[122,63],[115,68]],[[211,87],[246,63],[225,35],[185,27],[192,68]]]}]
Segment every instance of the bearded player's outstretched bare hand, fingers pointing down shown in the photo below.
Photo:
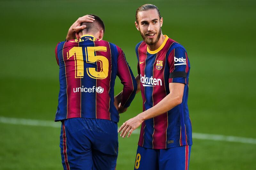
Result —
[{"label": "bearded player's outstretched bare hand, fingers pointing down", "polygon": [[133,130],[137,129],[142,122],[143,120],[140,117],[140,115],[137,115],[129,119],[128,121],[124,122],[123,125],[118,129],[118,133],[122,131],[120,136],[124,138],[129,132],[127,137],[130,137]]}]

